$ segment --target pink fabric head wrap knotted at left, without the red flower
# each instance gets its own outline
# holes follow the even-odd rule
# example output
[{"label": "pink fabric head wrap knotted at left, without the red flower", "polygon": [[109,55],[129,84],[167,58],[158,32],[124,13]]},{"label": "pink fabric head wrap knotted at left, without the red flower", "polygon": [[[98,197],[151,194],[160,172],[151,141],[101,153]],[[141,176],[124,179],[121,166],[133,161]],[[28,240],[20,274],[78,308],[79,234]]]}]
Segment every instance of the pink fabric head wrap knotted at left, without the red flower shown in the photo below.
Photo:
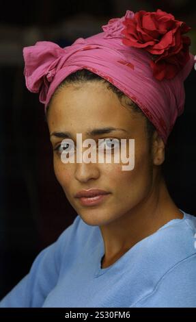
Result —
[{"label": "pink fabric head wrap knotted at left, without the red flower", "polygon": [[154,77],[152,54],[158,50],[163,52],[161,44],[150,52],[145,50],[149,46],[145,48],[143,42],[140,42],[143,48],[139,48],[139,42],[134,38],[135,47],[122,42],[123,22],[126,19],[131,21],[134,15],[127,10],[122,18],[113,18],[102,26],[104,32],[85,39],[78,38],[65,48],[50,41],[38,41],[36,45],[24,47],[26,86],[31,92],[40,92],[40,102],[44,103],[46,111],[57,86],[71,73],[88,69],[107,79],[137,103],[167,143],[176,118],[184,110],[184,79],[194,66],[194,56],[188,53],[188,61],[179,68],[175,77],[163,77],[167,66],[162,71],[162,79]]}]

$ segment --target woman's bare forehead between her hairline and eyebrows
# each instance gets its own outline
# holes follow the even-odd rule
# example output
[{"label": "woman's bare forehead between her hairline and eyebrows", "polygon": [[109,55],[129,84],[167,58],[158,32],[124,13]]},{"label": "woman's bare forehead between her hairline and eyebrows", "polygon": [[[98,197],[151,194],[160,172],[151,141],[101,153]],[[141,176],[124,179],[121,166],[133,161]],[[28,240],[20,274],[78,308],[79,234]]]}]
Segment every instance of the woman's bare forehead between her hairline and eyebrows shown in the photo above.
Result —
[{"label": "woman's bare forehead between her hairline and eyebrows", "polygon": [[48,110],[51,131],[85,132],[89,127],[113,126],[132,129],[143,125],[141,113],[130,110],[101,82],[87,82],[61,88]]}]

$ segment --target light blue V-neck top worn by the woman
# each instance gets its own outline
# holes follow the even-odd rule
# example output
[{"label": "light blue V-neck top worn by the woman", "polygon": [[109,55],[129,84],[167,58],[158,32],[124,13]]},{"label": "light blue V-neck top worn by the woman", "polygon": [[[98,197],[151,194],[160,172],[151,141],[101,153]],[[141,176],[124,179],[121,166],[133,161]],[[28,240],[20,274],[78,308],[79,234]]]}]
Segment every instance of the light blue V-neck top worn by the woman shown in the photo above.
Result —
[{"label": "light blue V-neck top worn by the woman", "polygon": [[76,216],[0,307],[196,307],[196,218],[182,212],[105,269],[100,228]]}]

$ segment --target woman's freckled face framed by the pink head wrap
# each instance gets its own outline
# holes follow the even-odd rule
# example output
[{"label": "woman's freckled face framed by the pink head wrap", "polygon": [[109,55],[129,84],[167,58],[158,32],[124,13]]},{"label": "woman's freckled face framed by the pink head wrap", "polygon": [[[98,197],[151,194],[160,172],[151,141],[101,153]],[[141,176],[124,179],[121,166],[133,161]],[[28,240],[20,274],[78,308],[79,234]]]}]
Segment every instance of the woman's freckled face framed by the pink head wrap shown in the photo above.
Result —
[{"label": "woman's freckled face framed by the pink head wrap", "polygon": [[[96,136],[86,134],[87,131],[103,127],[115,127],[118,130]],[[59,151],[54,151],[53,162],[57,180],[68,201],[85,223],[106,225],[143,204],[152,188],[153,179],[153,162],[143,114],[122,106],[117,96],[105,84],[86,82],[77,86],[66,86],[57,92],[48,110],[48,128],[50,134],[70,132],[75,150],[76,134],[82,134],[82,140],[93,138],[97,146],[100,138],[135,139],[135,166],[131,171],[122,171],[124,163],[121,160],[119,163],[64,163],[61,161],[61,147]],[[62,140],[65,138],[52,135],[53,149]],[[109,145],[104,144],[108,149]],[[82,151],[85,150],[87,147],[82,148]],[[106,190],[109,195],[96,206],[83,206],[74,195],[89,188]]]}]

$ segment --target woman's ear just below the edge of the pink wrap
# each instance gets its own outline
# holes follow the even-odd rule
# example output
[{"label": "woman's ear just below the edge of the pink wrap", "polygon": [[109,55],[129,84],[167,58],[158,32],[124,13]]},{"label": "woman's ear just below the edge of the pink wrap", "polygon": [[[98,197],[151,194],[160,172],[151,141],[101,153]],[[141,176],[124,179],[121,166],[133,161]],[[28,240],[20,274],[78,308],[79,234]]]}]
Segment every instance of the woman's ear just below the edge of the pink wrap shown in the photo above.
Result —
[{"label": "woman's ear just below the edge of the pink wrap", "polygon": [[155,165],[160,165],[165,160],[165,143],[157,131],[152,138],[152,160]]}]

